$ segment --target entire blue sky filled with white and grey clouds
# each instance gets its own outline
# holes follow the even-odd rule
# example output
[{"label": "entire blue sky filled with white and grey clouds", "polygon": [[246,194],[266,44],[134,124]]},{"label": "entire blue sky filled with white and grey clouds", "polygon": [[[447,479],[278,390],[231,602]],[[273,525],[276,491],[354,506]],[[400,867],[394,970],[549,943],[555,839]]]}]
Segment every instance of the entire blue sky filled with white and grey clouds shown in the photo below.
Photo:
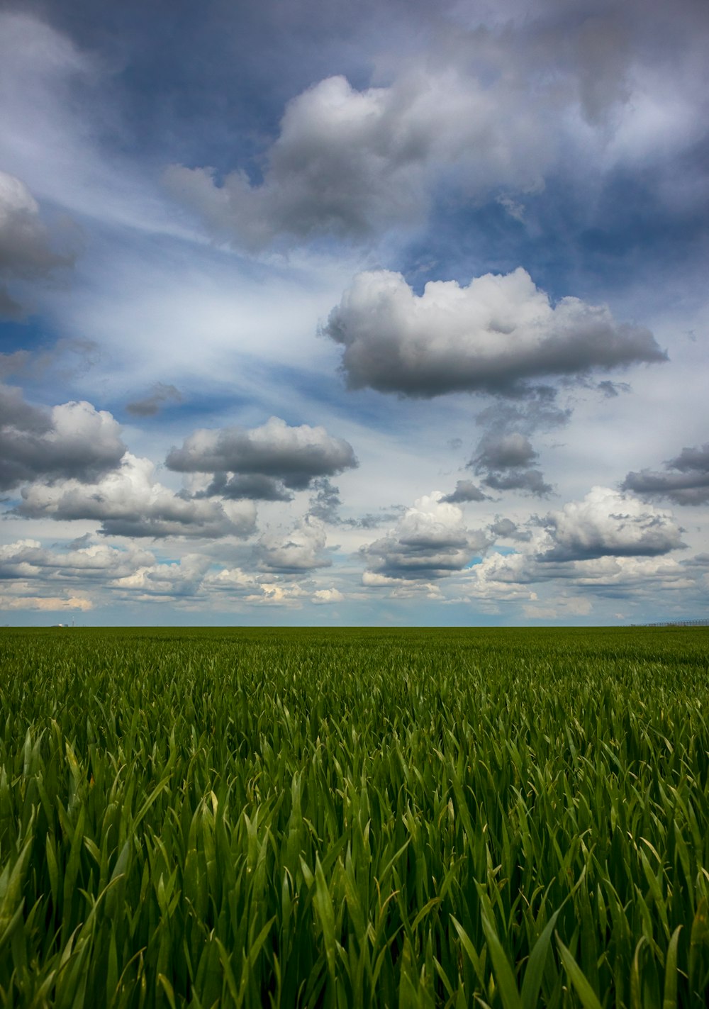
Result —
[{"label": "entire blue sky filled with white and grey clouds", "polygon": [[708,43],[0,5],[2,622],[705,616]]}]

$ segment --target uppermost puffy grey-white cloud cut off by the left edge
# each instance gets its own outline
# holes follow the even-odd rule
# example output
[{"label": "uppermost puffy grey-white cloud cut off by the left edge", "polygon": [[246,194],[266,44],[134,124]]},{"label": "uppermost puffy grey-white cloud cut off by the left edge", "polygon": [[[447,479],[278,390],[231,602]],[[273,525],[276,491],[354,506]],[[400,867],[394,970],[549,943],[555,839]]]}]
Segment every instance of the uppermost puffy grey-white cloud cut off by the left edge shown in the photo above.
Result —
[{"label": "uppermost puffy grey-white cloud cut off by the left edge", "polygon": [[8,283],[45,277],[57,266],[74,262],[74,256],[57,252],[52,245],[39,205],[27,187],[0,172],[0,315],[22,314]]}]

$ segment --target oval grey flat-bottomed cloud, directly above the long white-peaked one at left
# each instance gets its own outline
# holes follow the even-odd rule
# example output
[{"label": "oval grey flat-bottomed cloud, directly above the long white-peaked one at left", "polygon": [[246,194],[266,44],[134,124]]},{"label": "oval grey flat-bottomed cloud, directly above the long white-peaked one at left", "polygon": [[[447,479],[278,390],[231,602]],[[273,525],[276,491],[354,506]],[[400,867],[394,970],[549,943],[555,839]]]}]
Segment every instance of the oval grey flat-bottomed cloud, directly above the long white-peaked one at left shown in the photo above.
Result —
[{"label": "oval grey flat-bottomed cloud, directly above the long white-peaked one at left", "polygon": [[166,464],[183,473],[214,473],[208,494],[236,497],[244,488],[244,496],[255,497],[258,481],[242,478],[258,476],[265,478],[266,500],[287,500],[285,488],[303,490],[319,477],[354,468],[357,459],[349,442],[333,438],[323,427],[289,427],[271,417],[258,428],[195,431],[182,448],[169,452]]}]

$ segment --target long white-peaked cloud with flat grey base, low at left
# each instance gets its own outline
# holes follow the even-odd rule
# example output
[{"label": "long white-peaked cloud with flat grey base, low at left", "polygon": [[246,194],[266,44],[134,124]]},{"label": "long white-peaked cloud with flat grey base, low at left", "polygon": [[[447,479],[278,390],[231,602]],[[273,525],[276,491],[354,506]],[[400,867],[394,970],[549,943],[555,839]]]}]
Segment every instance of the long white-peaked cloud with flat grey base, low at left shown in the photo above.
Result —
[{"label": "long white-peaked cloud with flat grey base, low at left", "polygon": [[106,536],[209,539],[250,536],[256,528],[251,501],[186,499],[154,480],[149,459],[126,452],[119,469],[96,483],[76,479],[22,490],[15,510],[25,518],[99,522]]}]

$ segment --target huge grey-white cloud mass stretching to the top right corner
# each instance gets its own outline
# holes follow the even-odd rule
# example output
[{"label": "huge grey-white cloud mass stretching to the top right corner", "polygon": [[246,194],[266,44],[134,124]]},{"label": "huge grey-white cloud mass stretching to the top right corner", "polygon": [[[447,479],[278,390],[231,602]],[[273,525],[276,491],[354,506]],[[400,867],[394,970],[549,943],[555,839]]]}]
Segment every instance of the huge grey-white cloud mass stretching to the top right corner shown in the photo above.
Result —
[{"label": "huge grey-white cloud mass stretching to the top right corner", "polygon": [[[473,204],[497,198],[519,219],[512,195],[570,164],[603,175],[671,159],[679,191],[701,159],[706,20],[692,0],[665,6],[526,4],[515,18],[515,3],[448,5],[423,46],[413,30],[384,41],[386,86],[330,77],[293,98],[251,176],[244,162],[225,176],[173,165],[167,185],[214,233],[251,248],[416,226],[439,187]],[[699,203],[698,189],[685,199]]]}]

